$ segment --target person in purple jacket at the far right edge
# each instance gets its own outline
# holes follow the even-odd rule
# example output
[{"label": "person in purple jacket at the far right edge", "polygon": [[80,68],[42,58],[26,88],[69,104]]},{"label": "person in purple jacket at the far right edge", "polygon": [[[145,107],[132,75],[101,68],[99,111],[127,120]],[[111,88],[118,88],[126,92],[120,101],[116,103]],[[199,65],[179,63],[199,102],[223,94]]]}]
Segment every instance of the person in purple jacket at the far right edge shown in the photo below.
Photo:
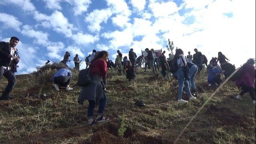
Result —
[{"label": "person in purple jacket at the far right edge", "polygon": [[[255,60],[250,58],[247,62],[238,70],[240,77],[236,78],[236,86],[240,88],[241,92],[236,96],[237,99],[242,99],[242,96],[247,92],[252,98],[252,103],[255,105]],[[240,71],[240,72],[239,72]]]}]

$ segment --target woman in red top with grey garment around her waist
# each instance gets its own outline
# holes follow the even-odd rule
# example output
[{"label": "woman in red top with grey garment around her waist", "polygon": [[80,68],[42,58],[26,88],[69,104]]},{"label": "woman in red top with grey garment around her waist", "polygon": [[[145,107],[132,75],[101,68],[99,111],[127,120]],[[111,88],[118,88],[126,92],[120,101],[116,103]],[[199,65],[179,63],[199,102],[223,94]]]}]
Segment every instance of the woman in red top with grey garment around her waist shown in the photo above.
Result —
[{"label": "woman in red top with grey garment around her waist", "polygon": [[[103,116],[104,109],[107,104],[106,94],[104,89],[106,87],[106,82],[102,82],[102,78],[106,78],[108,72],[107,60],[108,52],[101,51],[98,52],[90,64],[90,76],[92,77],[92,82],[88,86],[84,86],[78,97],[78,103],[83,104],[84,100],[88,100],[89,106],[87,111],[88,125],[92,126],[96,122],[105,122],[109,120],[108,117]],[[95,119],[94,107],[98,107],[98,116]]]}]

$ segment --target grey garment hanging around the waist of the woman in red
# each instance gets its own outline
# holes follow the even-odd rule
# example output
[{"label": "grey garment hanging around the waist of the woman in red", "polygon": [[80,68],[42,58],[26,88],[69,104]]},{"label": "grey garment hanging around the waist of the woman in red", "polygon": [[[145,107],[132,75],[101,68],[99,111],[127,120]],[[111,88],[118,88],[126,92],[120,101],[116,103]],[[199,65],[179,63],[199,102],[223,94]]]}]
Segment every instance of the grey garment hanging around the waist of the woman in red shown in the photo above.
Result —
[{"label": "grey garment hanging around the waist of the woman in red", "polygon": [[92,82],[88,86],[81,88],[78,103],[83,104],[84,100],[93,100],[96,105],[103,98],[105,85],[97,75],[92,76]]}]

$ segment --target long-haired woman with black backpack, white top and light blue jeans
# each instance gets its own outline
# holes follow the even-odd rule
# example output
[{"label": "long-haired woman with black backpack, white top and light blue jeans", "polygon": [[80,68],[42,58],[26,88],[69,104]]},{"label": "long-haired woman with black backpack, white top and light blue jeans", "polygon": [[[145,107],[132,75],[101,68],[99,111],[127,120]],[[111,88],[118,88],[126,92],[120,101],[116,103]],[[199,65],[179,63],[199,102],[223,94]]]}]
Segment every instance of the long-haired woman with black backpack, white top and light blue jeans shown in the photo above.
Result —
[{"label": "long-haired woman with black backpack, white top and light blue jeans", "polygon": [[186,92],[189,96],[189,100],[196,99],[194,96],[192,96],[192,94],[190,92],[188,81],[185,80],[184,68],[186,68],[187,63],[186,63],[186,58],[184,57],[184,52],[182,51],[182,49],[176,50],[176,53],[174,55],[174,60],[177,60],[177,64],[178,64],[178,70],[173,73],[174,78],[176,78],[176,80],[178,80],[178,84],[179,84],[179,86],[178,86],[178,102],[188,102],[188,101],[182,99],[183,84],[185,85]]}]

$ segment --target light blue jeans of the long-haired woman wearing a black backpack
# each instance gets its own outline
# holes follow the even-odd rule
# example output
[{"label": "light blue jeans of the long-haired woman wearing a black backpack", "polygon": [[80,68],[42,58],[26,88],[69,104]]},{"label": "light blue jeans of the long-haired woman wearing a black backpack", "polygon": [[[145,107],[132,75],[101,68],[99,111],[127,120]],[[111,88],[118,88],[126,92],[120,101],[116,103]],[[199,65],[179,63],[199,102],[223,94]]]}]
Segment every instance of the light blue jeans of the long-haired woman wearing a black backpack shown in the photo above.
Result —
[{"label": "light blue jeans of the long-haired woman wearing a black backpack", "polygon": [[184,71],[183,68],[178,68],[176,72],[173,73],[174,78],[178,80],[178,100],[182,99],[182,91],[183,91],[183,84],[185,84],[186,92],[188,93],[188,96],[192,96],[189,86],[188,86],[188,81],[185,81],[184,77]]}]

